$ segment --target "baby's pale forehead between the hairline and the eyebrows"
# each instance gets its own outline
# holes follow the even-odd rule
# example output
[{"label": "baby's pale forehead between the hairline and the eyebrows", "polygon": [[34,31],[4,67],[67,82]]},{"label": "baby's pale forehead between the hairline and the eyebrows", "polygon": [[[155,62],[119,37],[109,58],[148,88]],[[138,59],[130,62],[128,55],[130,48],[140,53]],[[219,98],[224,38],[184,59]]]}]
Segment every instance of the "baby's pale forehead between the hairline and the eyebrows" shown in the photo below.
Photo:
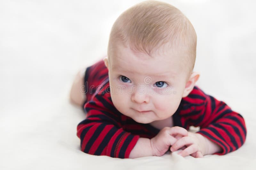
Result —
[{"label": "baby's pale forehead between the hairline and the eyebrows", "polygon": [[182,67],[178,54],[166,52],[149,56],[147,53],[134,52],[128,48],[120,48],[113,53],[110,62],[114,71],[159,77],[177,75]]}]

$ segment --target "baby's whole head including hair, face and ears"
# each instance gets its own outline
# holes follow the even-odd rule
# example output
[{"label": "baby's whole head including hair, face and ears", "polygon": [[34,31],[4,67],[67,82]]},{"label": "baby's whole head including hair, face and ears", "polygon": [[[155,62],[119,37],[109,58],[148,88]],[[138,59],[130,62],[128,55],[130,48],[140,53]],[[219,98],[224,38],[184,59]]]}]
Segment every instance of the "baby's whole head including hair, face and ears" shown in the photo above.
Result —
[{"label": "baby's whole head including hair, face and ears", "polygon": [[171,117],[199,74],[193,72],[196,32],[180,10],[144,1],[124,11],[108,42],[111,99],[139,123]]}]

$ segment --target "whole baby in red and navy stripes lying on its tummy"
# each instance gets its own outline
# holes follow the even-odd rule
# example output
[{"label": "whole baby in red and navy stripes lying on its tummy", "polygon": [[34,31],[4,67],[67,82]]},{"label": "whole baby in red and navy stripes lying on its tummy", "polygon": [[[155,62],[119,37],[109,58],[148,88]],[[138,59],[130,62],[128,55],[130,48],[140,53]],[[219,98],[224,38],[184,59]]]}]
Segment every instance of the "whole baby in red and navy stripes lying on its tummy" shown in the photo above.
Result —
[{"label": "whole baby in red and navy stripes lying on its tummy", "polygon": [[124,11],[108,56],[78,73],[70,92],[87,113],[77,126],[81,150],[138,158],[181,149],[183,157],[203,158],[241,147],[244,118],[195,85],[195,59],[196,32],[180,10],[144,1]]}]

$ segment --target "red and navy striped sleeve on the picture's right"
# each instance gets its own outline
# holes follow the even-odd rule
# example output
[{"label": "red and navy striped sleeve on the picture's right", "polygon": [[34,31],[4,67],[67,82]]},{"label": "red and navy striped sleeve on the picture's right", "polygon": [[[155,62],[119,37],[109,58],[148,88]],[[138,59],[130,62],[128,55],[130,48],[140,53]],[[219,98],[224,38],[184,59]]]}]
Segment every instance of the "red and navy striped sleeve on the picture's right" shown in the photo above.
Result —
[{"label": "red and navy striped sleeve on the picture's right", "polygon": [[196,133],[220,145],[222,151],[213,154],[224,155],[244,144],[247,130],[242,115],[231,110],[223,101],[205,94],[197,86],[185,99],[190,107],[183,121],[188,126],[200,126]]}]

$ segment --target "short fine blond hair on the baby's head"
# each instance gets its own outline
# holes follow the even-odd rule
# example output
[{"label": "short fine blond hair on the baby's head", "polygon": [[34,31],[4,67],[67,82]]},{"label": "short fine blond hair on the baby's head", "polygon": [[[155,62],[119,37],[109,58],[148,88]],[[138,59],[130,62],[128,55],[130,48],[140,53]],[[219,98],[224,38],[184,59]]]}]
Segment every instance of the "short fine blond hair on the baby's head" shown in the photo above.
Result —
[{"label": "short fine blond hair on the baby's head", "polygon": [[[189,73],[196,60],[196,32],[188,18],[176,7],[159,1],[144,1],[124,11],[112,26],[108,41],[108,57],[112,43],[119,43],[151,56],[160,46],[186,51],[183,60]],[[190,76],[190,75],[189,75]]]}]

